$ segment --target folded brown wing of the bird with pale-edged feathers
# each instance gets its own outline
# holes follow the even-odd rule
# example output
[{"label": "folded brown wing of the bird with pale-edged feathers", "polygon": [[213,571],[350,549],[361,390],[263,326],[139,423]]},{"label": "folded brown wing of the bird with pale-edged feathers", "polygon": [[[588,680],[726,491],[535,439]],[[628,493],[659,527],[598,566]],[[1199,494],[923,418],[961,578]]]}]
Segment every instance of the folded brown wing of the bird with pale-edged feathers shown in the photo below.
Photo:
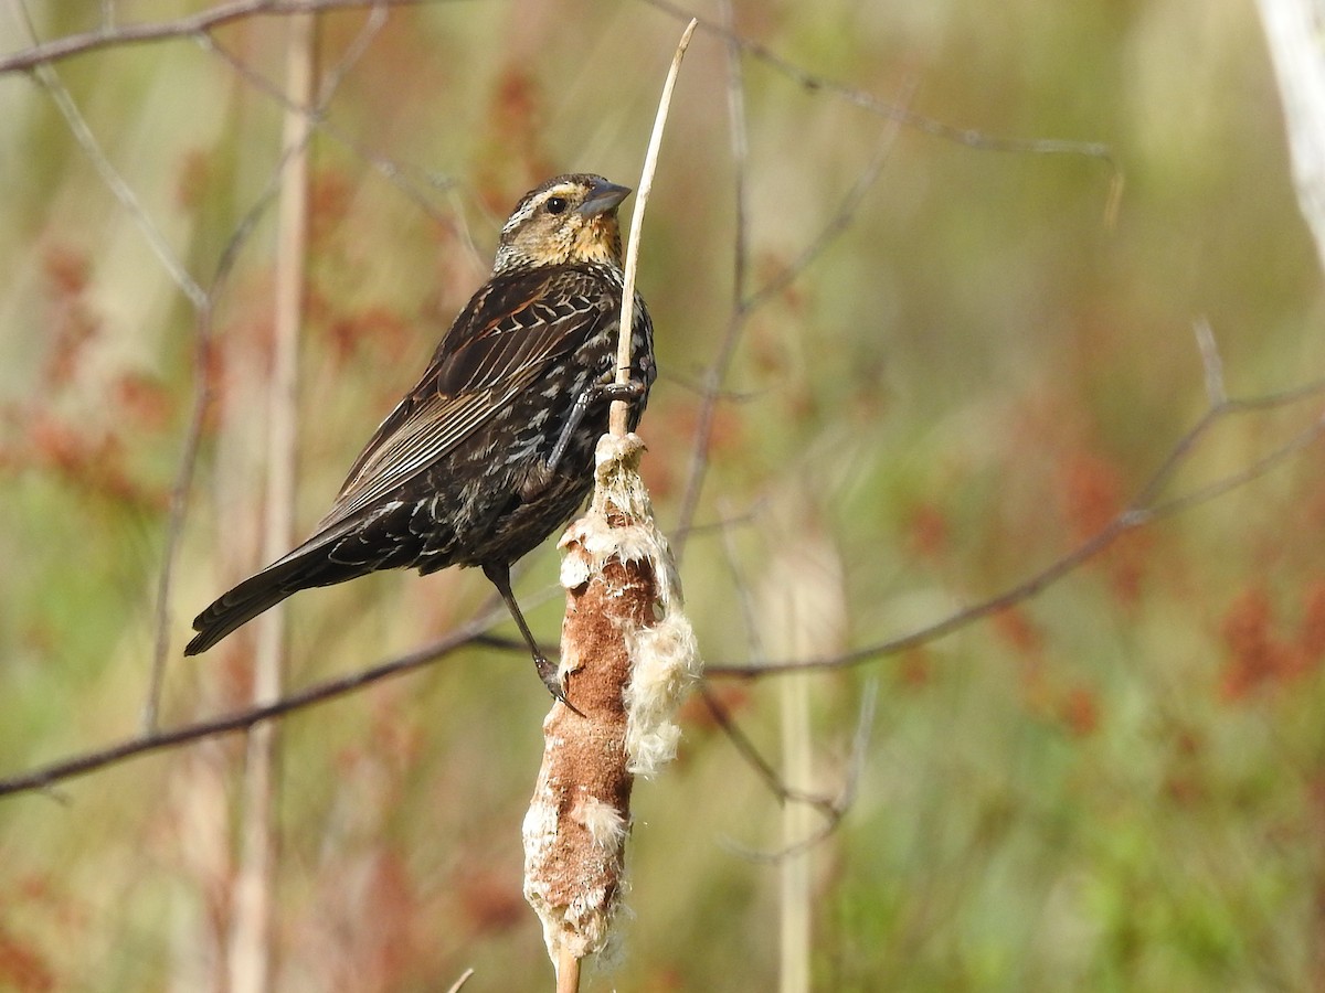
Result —
[{"label": "folded brown wing of the bird with pale-edged feathers", "polygon": [[445,457],[550,361],[598,332],[611,319],[602,290],[594,274],[563,266],[484,286],[456,318],[419,385],[355,459],[317,531],[334,528]]}]

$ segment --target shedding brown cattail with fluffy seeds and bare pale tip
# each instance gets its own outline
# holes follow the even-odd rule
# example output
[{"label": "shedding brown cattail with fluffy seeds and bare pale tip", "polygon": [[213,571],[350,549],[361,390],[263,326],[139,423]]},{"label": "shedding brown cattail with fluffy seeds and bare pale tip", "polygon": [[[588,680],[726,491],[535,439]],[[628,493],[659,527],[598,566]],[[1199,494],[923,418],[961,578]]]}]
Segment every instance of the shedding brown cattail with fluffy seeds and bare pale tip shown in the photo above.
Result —
[{"label": "shedding brown cattail with fluffy seeds and bare pale tip", "polygon": [[[617,381],[631,368],[640,222],[690,21],[668,73],[645,155],[625,257]],[[640,481],[644,442],[625,432],[625,404],[595,453],[594,499],[562,538],[560,674],[570,707],[543,722],[543,764],[525,817],[525,899],[543,925],[558,993],[579,989],[580,963],[602,953],[624,888],[631,789],[676,755],[672,722],[698,678],[694,633],[666,539]]]}]

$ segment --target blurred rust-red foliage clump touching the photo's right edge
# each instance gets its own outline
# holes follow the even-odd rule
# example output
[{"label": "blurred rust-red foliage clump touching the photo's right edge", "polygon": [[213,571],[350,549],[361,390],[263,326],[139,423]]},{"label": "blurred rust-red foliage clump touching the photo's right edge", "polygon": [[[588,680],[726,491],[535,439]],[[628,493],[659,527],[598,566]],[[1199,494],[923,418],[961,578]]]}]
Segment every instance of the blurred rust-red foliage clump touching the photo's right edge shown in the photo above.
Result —
[{"label": "blurred rust-red foliage clump touching the photo's right edge", "polygon": [[1263,584],[1246,589],[1230,605],[1220,625],[1228,661],[1222,692],[1242,700],[1251,692],[1304,675],[1325,654],[1325,583],[1306,588],[1301,629],[1296,636],[1275,630],[1275,608]]}]

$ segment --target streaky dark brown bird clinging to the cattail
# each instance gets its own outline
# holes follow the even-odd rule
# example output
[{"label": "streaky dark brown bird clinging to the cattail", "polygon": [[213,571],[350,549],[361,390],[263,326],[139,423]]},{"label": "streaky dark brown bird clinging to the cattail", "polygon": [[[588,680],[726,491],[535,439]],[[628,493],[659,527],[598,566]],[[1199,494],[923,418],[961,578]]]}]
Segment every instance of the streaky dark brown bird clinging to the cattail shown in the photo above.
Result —
[{"label": "streaky dark brown bird clinging to the cattail", "polygon": [[623,293],[616,208],[629,192],[567,175],[519,201],[492,278],[355,459],[331,512],[307,542],[203,610],[184,654],[309,587],[375,569],[478,565],[543,682],[564,699],[511,594],[510,564],[584,503],[610,400],[631,399],[631,430],[648,400],[653,327],[639,297],[631,385],[612,385]]}]

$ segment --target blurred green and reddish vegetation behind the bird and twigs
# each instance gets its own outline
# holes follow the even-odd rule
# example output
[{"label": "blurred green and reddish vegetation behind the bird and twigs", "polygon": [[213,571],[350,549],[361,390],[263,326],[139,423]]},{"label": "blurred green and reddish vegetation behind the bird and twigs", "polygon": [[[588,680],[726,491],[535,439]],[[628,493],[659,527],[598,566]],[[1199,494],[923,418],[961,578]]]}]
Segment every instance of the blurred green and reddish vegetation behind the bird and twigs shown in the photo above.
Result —
[{"label": "blurred green and reddish vegetation behind the bird and twigs", "polygon": [[[41,38],[205,8],[29,0]],[[1109,147],[990,151],[901,127],[849,224],[750,315],[684,580],[712,663],[871,646],[996,594],[1122,510],[1230,392],[1325,368],[1321,273],[1252,3],[746,3],[738,33],[957,128]],[[696,13],[721,23],[722,9]],[[326,16],[323,69],[364,24]],[[645,1],[392,11],[314,142],[301,528],[486,275],[549,175],[632,184],[684,19]],[[138,732],[171,487],[211,389],[167,606],[163,723],[245,699],[252,639],[183,659],[188,618],[257,561],[284,24],[107,46],[56,70],[106,160],[211,295],[213,340],[50,97],[0,75],[0,775]],[[11,4],[4,53],[30,44]],[[225,53],[225,54],[221,54]],[[786,273],[889,122],[742,58],[749,289]],[[266,82],[264,82],[266,81]],[[273,82],[277,81],[277,82]],[[662,377],[643,430],[678,520],[698,384],[731,320],[727,54],[701,30],[649,211]],[[383,168],[382,164],[390,164]],[[244,229],[253,217],[252,229]],[[236,240],[236,232],[244,236]],[[1222,420],[1165,496],[1252,466],[1320,395]],[[1130,532],[1015,609],[795,677],[808,785],[851,779],[814,847],[824,990],[1325,986],[1325,469],[1310,445]],[[551,544],[518,589],[560,612]],[[539,600],[539,596],[542,598]],[[376,576],[290,602],[290,682],[472,617],[481,576]],[[500,630],[510,625],[502,622]],[[779,763],[787,678],[713,681]],[[519,822],[549,704],[521,651],[472,650],[284,722],[281,989],[542,990]],[[636,790],[627,953],[591,989],[770,989],[775,796],[696,704]],[[238,737],[0,801],[0,988],[220,989]],[[811,818],[811,824],[819,824]]]}]

